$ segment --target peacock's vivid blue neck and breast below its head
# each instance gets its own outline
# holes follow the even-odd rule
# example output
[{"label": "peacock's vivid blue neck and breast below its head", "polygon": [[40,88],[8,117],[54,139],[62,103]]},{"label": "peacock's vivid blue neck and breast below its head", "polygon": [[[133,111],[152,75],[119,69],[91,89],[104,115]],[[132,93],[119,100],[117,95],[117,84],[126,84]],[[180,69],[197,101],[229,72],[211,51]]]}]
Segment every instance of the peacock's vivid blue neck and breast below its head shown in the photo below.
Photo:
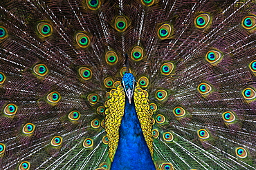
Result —
[{"label": "peacock's vivid blue neck and breast below its head", "polygon": [[125,113],[119,127],[119,142],[111,170],[156,169],[136,114],[134,99],[125,98]]}]

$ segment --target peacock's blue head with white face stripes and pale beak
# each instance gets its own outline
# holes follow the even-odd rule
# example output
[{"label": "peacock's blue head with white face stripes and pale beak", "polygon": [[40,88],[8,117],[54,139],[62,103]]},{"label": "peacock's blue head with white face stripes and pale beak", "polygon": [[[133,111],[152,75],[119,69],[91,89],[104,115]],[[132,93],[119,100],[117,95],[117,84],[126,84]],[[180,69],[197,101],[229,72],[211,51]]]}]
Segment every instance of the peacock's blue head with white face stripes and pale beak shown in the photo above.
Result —
[{"label": "peacock's blue head with white face stripes and pale beak", "polygon": [[134,95],[135,78],[131,73],[125,73],[122,77],[122,86],[125,89],[125,94],[131,104],[131,98]]}]

